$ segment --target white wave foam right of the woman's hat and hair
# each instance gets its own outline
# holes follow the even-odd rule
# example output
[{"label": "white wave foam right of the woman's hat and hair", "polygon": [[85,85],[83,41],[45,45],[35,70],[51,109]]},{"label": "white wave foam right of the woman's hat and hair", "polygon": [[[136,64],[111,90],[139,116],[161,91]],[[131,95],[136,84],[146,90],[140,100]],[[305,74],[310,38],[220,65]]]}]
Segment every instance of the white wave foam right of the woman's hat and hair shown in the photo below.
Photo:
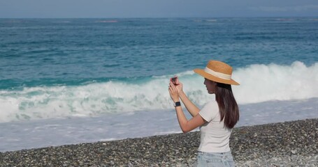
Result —
[{"label": "white wave foam right of the woman's hat and hair", "polygon": [[310,67],[299,61],[289,66],[250,65],[233,76],[241,84],[233,88],[240,104],[318,97],[318,63]]}]

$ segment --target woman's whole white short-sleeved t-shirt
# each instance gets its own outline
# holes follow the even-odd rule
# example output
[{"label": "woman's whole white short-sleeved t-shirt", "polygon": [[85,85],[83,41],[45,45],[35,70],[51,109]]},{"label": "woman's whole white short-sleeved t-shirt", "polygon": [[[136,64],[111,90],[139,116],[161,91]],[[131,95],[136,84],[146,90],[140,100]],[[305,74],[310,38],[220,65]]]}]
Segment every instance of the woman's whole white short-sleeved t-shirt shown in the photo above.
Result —
[{"label": "woman's whole white short-sleeved t-shirt", "polygon": [[216,101],[208,102],[198,113],[207,121],[200,127],[201,141],[198,151],[200,152],[229,152],[229,140],[232,129],[224,125],[219,115],[219,106]]}]

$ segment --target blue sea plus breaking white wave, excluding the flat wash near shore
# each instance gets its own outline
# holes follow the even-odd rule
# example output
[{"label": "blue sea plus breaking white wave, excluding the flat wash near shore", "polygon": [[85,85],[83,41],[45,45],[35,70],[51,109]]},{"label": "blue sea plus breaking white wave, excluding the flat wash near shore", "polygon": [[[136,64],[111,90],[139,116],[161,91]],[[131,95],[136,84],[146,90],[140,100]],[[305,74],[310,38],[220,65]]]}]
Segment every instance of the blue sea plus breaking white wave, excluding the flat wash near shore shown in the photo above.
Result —
[{"label": "blue sea plus breaking white wave, excluding the flat wash near shore", "polygon": [[0,19],[0,121],[169,109],[174,74],[202,105],[191,70],[210,59],[234,67],[241,104],[317,97],[317,27],[314,17]]}]

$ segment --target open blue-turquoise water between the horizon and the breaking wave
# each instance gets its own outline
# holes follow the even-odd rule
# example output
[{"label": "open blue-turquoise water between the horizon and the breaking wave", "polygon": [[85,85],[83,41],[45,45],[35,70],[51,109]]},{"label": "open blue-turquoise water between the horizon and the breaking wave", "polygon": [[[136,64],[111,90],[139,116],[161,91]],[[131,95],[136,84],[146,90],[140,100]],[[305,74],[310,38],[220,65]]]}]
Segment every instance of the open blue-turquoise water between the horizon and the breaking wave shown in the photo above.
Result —
[{"label": "open blue-turquoise water between the horizon and the breaking wave", "polygon": [[130,81],[215,58],[245,67],[318,61],[318,21],[296,18],[0,19],[1,89]]}]

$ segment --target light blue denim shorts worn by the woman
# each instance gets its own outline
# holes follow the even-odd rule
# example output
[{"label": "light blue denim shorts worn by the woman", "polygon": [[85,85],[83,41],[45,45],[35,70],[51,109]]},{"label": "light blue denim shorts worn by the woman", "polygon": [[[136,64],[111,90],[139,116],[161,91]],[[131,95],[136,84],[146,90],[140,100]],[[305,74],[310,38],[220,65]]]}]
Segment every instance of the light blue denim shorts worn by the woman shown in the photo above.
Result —
[{"label": "light blue denim shorts worn by the woman", "polygon": [[198,152],[197,166],[235,166],[231,151],[229,152]]}]

